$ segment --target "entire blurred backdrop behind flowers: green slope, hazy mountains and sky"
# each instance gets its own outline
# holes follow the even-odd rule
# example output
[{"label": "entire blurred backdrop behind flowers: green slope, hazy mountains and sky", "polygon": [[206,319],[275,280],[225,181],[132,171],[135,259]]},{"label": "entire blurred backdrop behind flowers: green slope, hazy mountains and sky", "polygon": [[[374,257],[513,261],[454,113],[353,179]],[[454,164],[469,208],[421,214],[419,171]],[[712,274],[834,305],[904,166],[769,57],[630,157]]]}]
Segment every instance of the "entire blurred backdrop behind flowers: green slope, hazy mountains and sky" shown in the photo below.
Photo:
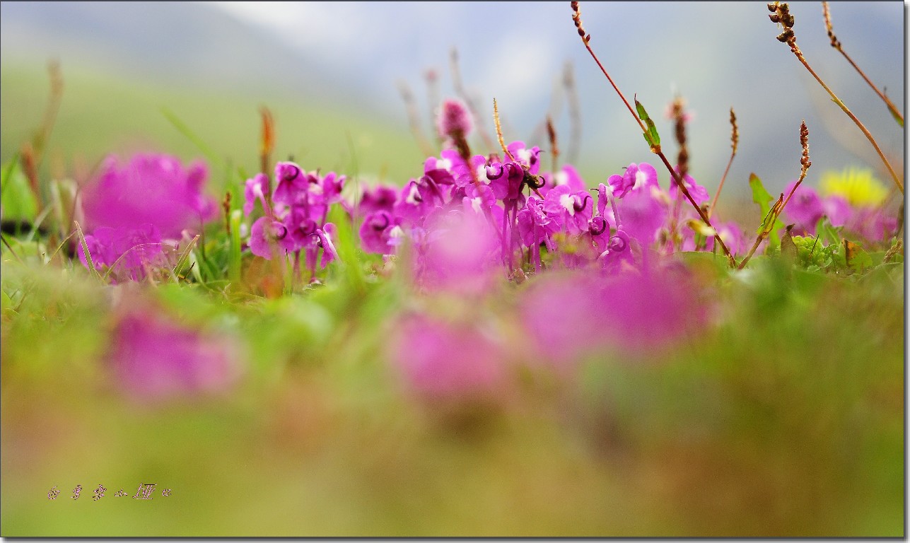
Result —
[{"label": "entire blurred backdrop behind flowers: green slope, hazy mountains and sky", "polygon": [[[410,86],[429,133],[424,75],[435,71],[440,95],[453,96],[453,47],[470,96],[487,109],[493,96],[499,101],[507,139],[530,140],[552,107],[567,151],[568,108],[564,96],[552,96],[571,63],[582,112],[578,164],[589,185],[630,162],[652,160],[581,45],[564,2],[5,2],[0,10],[3,160],[39,125],[45,65],[56,58],[66,90],[50,146],[65,162],[149,146],[199,156],[162,115],[164,107],[218,156],[253,169],[258,106],[266,105],[277,121],[278,156],[348,173],[356,164],[361,174],[403,183],[420,174],[423,156],[397,84]],[[662,114],[675,92],[686,99],[694,113],[693,175],[709,189],[729,156],[730,106],[741,133],[731,197],[746,196],[753,171],[772,191],[792,180],[803,118],[814,165],[808,183],[825,169],[878,167],[864,137],[774,39],[764,3],[582,3],[581,13],[592,47],[622,91],[661,117],[669,156],[676,149]],[[820,3],[794,4],[793,13],[798,42],[816,71],[894,157],[895,168],[903,167],[903,131],[828,45]],[[904,5],[838,2],[832,16],[844,48],[900,104]],[[490,119],[480,124],[489,127]],[[475,151],[485,151],[474,141]],[[532,143],[547,147],[542,138]]]}]

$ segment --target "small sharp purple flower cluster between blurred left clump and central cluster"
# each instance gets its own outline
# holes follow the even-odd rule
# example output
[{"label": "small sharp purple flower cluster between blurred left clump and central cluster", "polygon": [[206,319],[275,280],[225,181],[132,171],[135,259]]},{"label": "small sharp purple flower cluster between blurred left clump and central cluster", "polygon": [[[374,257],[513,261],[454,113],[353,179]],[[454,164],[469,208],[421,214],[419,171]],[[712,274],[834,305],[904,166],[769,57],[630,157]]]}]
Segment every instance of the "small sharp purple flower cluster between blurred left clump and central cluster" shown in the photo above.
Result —
[{"label": "small sharp purple flower cluster between blurred left clump and central cluster", "polygon": [[256,256],[272,258],[288,253],[306,255],[311,273],[319,263],[325,267],[338,258],[332,238],[337,238],[336,227],[326,222],[329,206],[342,201],[341,190],[345,176],[329,172],[305,172],[293,162],[275,165],[277,185],[270,193],[270,179],[258,174],[248,179],[244,191],[244,213],[249,216],[258,201],[265,212],[250,227],[249,249]]}]

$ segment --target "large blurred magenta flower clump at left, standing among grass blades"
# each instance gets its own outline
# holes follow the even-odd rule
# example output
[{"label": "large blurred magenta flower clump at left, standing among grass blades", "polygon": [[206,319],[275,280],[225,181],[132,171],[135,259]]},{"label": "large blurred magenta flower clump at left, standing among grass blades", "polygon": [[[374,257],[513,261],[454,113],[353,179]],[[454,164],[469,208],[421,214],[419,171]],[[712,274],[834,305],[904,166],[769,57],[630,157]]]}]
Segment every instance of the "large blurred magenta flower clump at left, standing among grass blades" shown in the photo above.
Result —
[{"label": "large blurred magenta flower clump at left, standing among grass blades", "polygon": [[[92,263],[133,280],[167,264],[164,249],[215,214],[215,203],[202,192],[206,178],[203,163],[184,167],[174,156],[136,155],[122,167],[108,157],[82,191]],[[87,267],[85,251],[76,252]]]}]

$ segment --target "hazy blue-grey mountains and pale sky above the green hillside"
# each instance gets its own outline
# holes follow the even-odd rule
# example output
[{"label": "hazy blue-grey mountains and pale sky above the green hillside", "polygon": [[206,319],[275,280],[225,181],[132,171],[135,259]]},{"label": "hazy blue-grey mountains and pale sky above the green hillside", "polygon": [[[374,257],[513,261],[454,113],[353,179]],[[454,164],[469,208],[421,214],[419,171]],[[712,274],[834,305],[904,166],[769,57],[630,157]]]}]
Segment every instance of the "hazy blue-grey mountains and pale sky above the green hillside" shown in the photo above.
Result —
[{"label": "hazy blue-grey mountains and pale sky above the green hillside", "polygon": [[[631,116],[584,50],[568,3],[7,3],[0,18],[4,63],[59,56],[149,83],[204,85],[213,92],[284,94],[353,106],[404,123],[396,82],[407,81],[426,113],[423,74],[434,68],[453,94],[450,49],[490,126],[492,96],[510,139],[527,138],[551,102],[562,65],[575,68],[582,107],[581,163],[602,176],[652,160]],[[797,36],[819,73],[903,166],[903,131],[828,45],[818,3],[793,5]],[[904,93],[903,4],[833,3],[844,47],[888,94]],[[591,45],[623,92],[662,120],[675,87],[695,112],[693,174],[716,186],[729,155],[729,108],[740,154],[732,190],[750,171],[774,189],[798,172],[798,127],[810,127],[813,174],[857,162],[876,167],[864,137],[774,39],[764,3],[582,3]],[[900,102],[900,100],[896,100]],[[557,123],[563,148],[565,106]],[[426,116],[425,116],[426,117]],[[424,125],[429,122],[424,118]],[[544,142],[535,142],[543,146]],[[592,182],[595,180],[591,180]],[[810,175],[810,183],[814,182]]]}]

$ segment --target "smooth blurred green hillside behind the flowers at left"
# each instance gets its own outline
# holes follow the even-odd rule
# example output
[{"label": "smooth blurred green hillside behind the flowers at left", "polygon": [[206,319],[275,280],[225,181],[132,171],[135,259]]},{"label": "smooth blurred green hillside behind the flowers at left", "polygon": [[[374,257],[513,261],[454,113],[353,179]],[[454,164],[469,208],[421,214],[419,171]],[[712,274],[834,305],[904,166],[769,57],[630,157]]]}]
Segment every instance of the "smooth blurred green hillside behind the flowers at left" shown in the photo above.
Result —
[{"label": "smooth blurred green hillside behind the flowers at left", "polygon": [[[268,106],[277,131],[276,157],[293,155],[308,169],[336,169],[384,176],[400,184],[419,174],[423,157],[406,128],[369,112],[316,104],[293,97],[244,96],[232,89],[206,92],[177,85],[147,84],[111,75],[70,71],[49,140],[50,157],[67,166],[107,153],[157,150],[185,159],[202,157],[199,147],[162,113],[177,116],[214,155],[252,171],[258,164],[260,106]],[[15,154],[40,125],[49,95],[44,66],[2,69],[2,161]],[[402,106],[402,122],[403,123]],[[46,162],[46,161],[45,161]],[[48,167],[45,164],[45,168]],[[67,169],[70,169],[67,167]],[[212,183],[217,179],[213,168]]]}]

